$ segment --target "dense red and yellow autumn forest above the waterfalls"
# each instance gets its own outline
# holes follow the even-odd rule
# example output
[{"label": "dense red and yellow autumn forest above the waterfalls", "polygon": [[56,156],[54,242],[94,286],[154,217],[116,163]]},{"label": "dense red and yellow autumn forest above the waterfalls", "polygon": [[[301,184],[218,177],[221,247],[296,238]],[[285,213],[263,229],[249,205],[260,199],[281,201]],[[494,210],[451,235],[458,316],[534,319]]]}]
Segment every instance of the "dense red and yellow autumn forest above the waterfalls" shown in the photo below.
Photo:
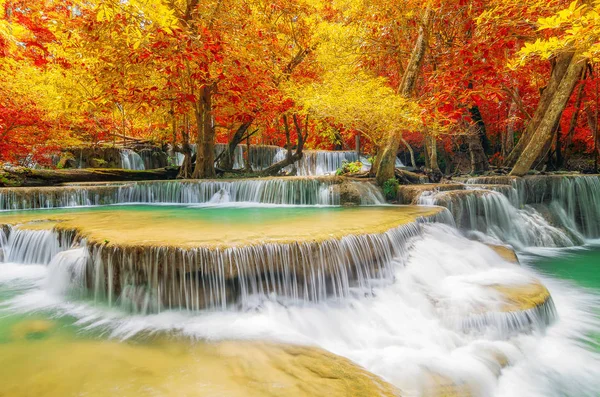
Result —
[{"label": "dense red and yellow autumn forest above the waterfalls", "polygon": [[[0,161],[81,145],[396,155],[455,172],[593,172],[600,1],[0,0]],[[228,144],[215,158],[216,143]],[[195,145],[192,154],[191,146]],[[231,155],[227,155],[229,152]]]}]

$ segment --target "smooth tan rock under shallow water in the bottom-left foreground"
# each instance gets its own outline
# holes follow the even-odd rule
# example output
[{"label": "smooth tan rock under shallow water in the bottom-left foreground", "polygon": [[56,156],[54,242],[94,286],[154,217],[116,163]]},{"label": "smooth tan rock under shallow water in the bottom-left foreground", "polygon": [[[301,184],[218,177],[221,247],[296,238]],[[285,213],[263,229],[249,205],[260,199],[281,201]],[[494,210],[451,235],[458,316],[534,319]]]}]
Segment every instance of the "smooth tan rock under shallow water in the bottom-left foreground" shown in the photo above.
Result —
[{"label": "smooth tan rock under shallow water in the bottom-left foreground", "polygon": [[0,345],[10,397],[347,397],[399,391],[318,348],[262,342],[65,341]]}]

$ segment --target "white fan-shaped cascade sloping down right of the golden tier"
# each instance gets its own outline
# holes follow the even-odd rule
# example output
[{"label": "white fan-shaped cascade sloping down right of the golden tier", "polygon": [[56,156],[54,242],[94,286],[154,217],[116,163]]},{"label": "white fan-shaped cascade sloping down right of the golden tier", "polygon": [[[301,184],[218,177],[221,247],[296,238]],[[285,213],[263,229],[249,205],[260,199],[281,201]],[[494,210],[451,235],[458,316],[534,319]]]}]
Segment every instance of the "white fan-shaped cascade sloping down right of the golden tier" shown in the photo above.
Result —
[{"label": "white fan-shaped cascade sloping down right of the golden tier", "polygon": [[457,227],[479,231],[517,247],[568,247],[580,242],[552,226],[533,207],[517,209],[497,191],[426,191],[418,203],[446,207]]}]

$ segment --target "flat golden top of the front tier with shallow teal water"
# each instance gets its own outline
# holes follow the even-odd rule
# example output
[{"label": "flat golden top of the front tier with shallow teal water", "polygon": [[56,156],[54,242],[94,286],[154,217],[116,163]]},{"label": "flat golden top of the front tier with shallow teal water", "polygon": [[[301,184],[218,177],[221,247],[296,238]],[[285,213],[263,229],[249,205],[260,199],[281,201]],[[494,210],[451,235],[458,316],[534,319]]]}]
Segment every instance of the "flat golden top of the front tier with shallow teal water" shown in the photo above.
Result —
[{"label": "flat golden top of the front tier with shallow teal water", "polygon": [[92,242],[119,246],[234,247],[311,242],[381,234],[434,216],[438,207],[190,208],[109,206],[0,214],[0,224],[78,231]]}]

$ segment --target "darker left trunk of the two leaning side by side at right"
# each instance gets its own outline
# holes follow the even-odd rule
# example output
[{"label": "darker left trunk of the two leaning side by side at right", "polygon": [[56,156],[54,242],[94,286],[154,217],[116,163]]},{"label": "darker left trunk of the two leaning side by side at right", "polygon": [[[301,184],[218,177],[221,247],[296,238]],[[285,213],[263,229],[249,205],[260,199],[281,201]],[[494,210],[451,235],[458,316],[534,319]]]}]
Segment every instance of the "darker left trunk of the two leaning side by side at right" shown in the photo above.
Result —
[{"label": "darker left trunk of the two leaning side by side at right", "polygon": [[563,77],[565,76],[570,63],[573,60],[573,57],[573,53],[566,53],[558,55],[554,60],[552,73],[550,74],[550,80],[542,92],[533,118],[527,123],[525,131],[523,131],[523,134],[521,135],[521,139],[519,139],[512,152],[504,161],[504,165],[512,167],[516,164],[517,159],[519,159],[521,153],[523,153],[525,148],[528,146],[529,141],[533,137],[535,131],[544,121],[546,112],[548,111],[553,98],[557,94]]}]

